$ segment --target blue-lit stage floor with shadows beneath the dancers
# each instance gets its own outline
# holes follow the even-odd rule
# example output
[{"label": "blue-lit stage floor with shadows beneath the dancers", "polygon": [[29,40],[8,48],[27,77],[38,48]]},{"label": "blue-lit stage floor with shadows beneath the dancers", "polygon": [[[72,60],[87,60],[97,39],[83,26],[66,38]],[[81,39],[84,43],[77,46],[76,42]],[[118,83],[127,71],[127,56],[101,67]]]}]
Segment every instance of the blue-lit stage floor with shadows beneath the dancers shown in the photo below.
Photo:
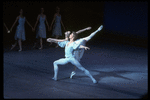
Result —
[{"label": "blue-lit stage floor with shadows beneath the dancers", "polygon": [[54,81],[53,62],[64,57],[64,49],[52,46],[43,50],[23,45],[23,51],[3,51],[4,98],[141,98],[148,92],[148,50],[113,43],[88,45],[81,64],[98,81],[76,70],[73,65],[59,66]]}]

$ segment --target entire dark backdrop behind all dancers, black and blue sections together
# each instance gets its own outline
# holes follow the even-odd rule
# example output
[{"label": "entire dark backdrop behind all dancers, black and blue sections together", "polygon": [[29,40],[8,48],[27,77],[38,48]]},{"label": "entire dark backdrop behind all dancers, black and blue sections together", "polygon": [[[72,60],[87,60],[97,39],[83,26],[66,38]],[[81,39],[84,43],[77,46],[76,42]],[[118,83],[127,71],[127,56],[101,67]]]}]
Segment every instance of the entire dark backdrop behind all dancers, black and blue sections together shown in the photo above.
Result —
[{"label": "entire dark backdrop behind all dancers, black and blue sections together", "polygon": [[[40,8],[44,8],[49,25],[52,22],[56,6],[60,7],[60,14],[66,30],[77,31],[91,26],[92,29],[79,35],[84,37],[95,31],[101,24],[104,29],[96,34],[89,44],[100,45],[102,42],[118,42],[136,45],[147,44],[148,13],[147,2],[92,2],[92,1],[5,1],[3,2],[3,22],[10,29],[20,9],[34,27]],[[18,24],[18,23],[17,23]],[[3,44],[11,45],[15,42],[14,35],[7,33],[3,25]],[[47,28],[47,26],[46,26]],[[26,41],[23,44],[33,44],[36,32],[25,23]],[[62,32],[64,30],[62,28]],[[47,31],[47,38],[52,31]],[[60,37],[60,38],[64,38]]]}]

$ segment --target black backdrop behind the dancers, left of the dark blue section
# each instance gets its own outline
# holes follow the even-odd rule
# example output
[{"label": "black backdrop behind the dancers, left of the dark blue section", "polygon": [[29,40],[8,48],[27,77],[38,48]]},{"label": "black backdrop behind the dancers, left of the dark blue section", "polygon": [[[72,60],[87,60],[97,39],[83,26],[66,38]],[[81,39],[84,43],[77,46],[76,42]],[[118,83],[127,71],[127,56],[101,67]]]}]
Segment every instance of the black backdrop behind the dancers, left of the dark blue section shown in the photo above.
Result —
[{"label": "black backdrop behind the dancers, left of the dark blue section", "polygon": [[[16,17],[19,15],[20,9],[23,9],[23,15],[34,27],[37,16],[40,13],[40,8],[43,7],[44,14],[46,14],[50,25],[55,13],[55,8],[59,6],[66,30],[77,31],[88,26],[92,27],[92,30],[79,35],[79,37],[83,37],[95,31],[103,23],[103,5],[103,2],[5,1],[3,2],[3,22],[6,23],[10,29]],[[5,27],[3,27],[3,42],[5,45],[14,43],[17,24],[10,34],[8,34]],[[63,27],[62,31],[64,33]],[[35,41],[36,32],[32,32],[27,23],[25,23],[25,33],[26,41],[23,43],[33,43]],[[51,34],[52,31],[47,31],[47,37],[51,37]],[[64,38],[64,35],[60,38]]]}]

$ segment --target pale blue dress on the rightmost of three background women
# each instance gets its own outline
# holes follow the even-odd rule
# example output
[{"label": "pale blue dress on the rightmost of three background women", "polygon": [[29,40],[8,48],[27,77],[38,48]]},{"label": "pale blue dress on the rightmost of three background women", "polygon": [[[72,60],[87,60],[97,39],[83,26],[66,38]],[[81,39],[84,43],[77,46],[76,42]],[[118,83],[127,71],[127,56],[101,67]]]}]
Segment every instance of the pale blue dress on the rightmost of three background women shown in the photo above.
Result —
[{"label": "pale blue dress on the rightmost of three background women", "polygon": [[55,18],[55,24],[53,26],[52,36],[62,36],[61,32],[61,16],[57,16]]}]

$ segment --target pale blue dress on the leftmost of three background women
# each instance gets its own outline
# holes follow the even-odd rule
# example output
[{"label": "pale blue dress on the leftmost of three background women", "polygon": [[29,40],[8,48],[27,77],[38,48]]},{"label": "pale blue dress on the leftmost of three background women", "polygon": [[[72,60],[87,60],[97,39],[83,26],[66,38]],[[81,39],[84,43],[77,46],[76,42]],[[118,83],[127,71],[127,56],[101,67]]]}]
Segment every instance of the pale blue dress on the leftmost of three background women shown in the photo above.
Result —
[{"label": "pale blue dress on the leftmost of three background women", "polygon": [[21,39],[24,41],[24,40],[26,40],[26,38],[25,38],[25,27],[24,27],[25,17],[23,17],[23,18],[19,17],[18,23],[19,23],[19,25],[17,26],[14,38],[15,38],[15,40]]}]

